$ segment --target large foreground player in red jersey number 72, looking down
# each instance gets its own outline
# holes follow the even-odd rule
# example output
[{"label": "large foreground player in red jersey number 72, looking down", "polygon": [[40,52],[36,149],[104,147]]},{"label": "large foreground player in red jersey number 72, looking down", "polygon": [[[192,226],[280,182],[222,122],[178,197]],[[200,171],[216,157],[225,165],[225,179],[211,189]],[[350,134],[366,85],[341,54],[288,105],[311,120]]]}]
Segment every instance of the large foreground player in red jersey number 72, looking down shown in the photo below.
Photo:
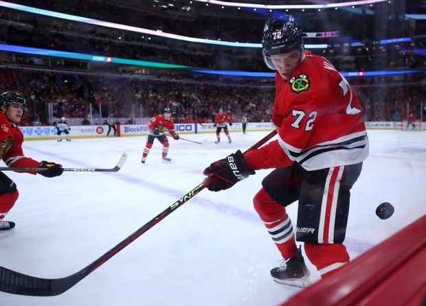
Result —
[{"label": "large foreground player in red jersey number 72, looking down", "polygon": [[[333,64],[304,49],[302,30],[292,16],[269,19],[262,54],[276,71],[273,123],[278,140],[242,154],[238,150],[207,167],[210,191],[220,191],[276,168],[262,181],[254,207],[283,259],[271,276],[279,283],[306,287],[306,257],[329,276],[350,260],[344,238],[350,189],[368,156],[366,126],[355,91]],[[298,201],[293,224],[286,207]]]}]

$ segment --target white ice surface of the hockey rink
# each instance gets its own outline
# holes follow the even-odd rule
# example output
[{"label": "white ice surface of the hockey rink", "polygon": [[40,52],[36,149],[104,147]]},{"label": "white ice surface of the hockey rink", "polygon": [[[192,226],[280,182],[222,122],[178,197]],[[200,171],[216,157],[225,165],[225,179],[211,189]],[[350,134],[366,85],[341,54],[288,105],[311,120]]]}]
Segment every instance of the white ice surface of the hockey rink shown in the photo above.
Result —
[{"label": "white ice surface of the hockey rink", "polygon": [[[74,274],[197,187],[210,163],[266,134],[234,132],[227,143],[222,133],[220,144],[214,134],[181,134],[203,144],[170,139],[172,163],[166,164],[155,142],[145,165],[145,137],[25,141],[26,156],[64,167],[113,167],[122,152],[128,160],[111,173],[5,172],[20,197],[6,217],[16,228],[0,235],[0,266],[43,278]],[[352,259],[426,213],[426,132],[368,134],[370,156],[352,189],[346,235]],[[252,206],[269,172],[227,191],[201,191],[60,296],[0,292],[1,305],[279,305],[300,289],[269,274],[280,255]],[[374,213],[381,202],[395,207],[388,220]],[[297,205],[288,212],[295,223]],[[311,279],[320,279],[308,266]]]}]

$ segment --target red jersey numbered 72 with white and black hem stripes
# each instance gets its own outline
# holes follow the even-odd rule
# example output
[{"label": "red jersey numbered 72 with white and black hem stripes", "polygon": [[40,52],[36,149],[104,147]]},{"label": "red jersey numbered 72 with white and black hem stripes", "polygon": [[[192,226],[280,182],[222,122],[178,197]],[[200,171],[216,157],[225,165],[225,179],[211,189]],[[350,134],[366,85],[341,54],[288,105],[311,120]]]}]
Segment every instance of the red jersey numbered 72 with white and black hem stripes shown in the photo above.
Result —
[{"label": "red jersey numbered 72 with white and black hem stripes", "polygon": [[288,81],[276,73],[272,121],[278,141],[247,152],[251,169],[287,167],[312,171],[364,161],[366,125],[357,94],[333,65],[305,50]]}]

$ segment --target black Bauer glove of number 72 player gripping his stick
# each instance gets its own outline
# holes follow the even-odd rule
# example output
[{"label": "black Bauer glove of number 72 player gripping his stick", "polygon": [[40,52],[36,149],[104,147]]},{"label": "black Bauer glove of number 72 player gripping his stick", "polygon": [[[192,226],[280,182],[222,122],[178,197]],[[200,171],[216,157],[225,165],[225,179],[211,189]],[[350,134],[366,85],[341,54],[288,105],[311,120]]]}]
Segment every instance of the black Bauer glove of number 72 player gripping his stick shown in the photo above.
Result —
[{"label": "black Bauer glove of number 72 player gripping his stick", "polygon": [[210,164],[210,167],[204,169],[203,174],[215,178],[207,186],[210,191],[221,191],[231,188],[235,183],[244,180],[249,175],[256,174],[256,172],[247,166],[243,153],[238,150],[235,154]]}]

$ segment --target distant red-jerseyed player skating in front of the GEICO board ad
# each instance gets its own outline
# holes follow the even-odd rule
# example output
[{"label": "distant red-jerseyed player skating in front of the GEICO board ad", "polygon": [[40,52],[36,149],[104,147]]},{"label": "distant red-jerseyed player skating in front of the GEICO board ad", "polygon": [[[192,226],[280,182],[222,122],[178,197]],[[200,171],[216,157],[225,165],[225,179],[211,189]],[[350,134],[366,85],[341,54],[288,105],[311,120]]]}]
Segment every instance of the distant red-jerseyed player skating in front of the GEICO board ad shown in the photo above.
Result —
[{"label": "distant red-jerseyed player skating in front of the GEICO board ad", "polygon": [[170,163],[172,161],[167,156],[169,145],[164,131],[168,130],[175,140],[179,139],[179,135],[175,133],[175,123],[173,123],[170,117],[172,117],[172,111],[170,108],[166,108],[164,109],[164,115],[157,115],[148,121],[148,133],[146,134],[146,145],[144,153],[142,154],[142,163],[145,163],[146,156],[148,156],[149,151],[153,148],[154,139],[158,139],[163,145],[163,161],[165,163]]}]

